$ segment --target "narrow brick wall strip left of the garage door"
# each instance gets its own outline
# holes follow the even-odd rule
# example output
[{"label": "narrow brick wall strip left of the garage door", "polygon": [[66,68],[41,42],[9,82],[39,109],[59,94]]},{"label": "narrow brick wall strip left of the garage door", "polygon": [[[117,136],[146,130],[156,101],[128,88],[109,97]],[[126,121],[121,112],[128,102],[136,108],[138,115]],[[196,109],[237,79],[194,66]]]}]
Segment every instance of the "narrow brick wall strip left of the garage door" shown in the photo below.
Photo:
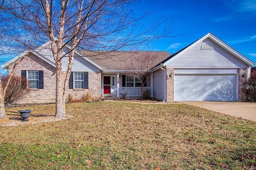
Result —
[{"label": "narrow brick wall strip left of the garage door", "polygon": [[[172,72],[172,78],[169,77]],[[174,68],[166,68],[166,102],[174,102]]]}]

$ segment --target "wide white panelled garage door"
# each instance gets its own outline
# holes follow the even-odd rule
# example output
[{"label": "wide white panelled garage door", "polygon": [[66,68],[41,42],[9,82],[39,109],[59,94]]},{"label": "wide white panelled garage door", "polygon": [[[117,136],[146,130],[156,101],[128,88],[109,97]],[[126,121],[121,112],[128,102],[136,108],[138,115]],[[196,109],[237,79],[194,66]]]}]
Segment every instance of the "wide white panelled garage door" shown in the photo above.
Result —
[{"label": "wide white panelled garage door", "polygon": [[236,74],[175,74],[175,101],[236,101]]}]

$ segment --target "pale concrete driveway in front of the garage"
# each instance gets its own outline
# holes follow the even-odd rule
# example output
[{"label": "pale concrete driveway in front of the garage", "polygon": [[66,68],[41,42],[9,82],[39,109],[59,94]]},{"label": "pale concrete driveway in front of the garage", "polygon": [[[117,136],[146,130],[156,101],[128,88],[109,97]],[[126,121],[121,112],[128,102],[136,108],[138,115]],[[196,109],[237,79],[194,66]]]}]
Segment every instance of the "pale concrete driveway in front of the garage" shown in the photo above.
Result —
[{"label": "pale concrete driveway in front of the garage", "polygon": [[180,102],[219,113],[256,121],[256,103],[249,102]]}]

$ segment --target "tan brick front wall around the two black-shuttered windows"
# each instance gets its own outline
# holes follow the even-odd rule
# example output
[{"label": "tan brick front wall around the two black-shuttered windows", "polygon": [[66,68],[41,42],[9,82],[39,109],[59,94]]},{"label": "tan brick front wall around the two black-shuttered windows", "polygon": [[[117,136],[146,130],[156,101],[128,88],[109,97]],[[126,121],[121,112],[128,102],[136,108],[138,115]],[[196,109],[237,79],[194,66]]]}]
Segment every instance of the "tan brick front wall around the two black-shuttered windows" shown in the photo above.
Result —
[{"label": "tan brick front wall around the two black-shuttered windows", "polygon": [[[8,69],[11,72],[13,64]],[[43,70],[44,71],[44,89],[31,89],[28,95],[19,102],[20,104],[38,104],[55,102],[56,78],[54,66],[46,63],[39,57],[31,54],[24,57],[18,63],[14,70],[14,75],[21,76],[21,70]],[[63,72],[63,76],[66,72]],[[68,89],[73,99],[80,99],[83,95],[89,92],[93,98],[100,98],[100,72],[88,72],[89,89],[74,90]]]}]

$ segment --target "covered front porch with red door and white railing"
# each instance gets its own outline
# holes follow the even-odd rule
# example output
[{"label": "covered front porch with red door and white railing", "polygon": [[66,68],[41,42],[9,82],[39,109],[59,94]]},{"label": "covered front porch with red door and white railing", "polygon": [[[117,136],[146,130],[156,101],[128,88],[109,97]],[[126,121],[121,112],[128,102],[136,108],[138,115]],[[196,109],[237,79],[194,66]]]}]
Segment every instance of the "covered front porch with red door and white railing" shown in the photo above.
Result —
[{"label": "covered front porch with red door and white railing", "polygon": [[[146,79],[143,91],[149,92],[150,97],[153,97],[153,81],[150,81],[151,76]],[[140,97],[141,96],[141,81],[136,78],[131,78],[125,73],[105,73],[102,74],[101,96],[120,98]]]}]

